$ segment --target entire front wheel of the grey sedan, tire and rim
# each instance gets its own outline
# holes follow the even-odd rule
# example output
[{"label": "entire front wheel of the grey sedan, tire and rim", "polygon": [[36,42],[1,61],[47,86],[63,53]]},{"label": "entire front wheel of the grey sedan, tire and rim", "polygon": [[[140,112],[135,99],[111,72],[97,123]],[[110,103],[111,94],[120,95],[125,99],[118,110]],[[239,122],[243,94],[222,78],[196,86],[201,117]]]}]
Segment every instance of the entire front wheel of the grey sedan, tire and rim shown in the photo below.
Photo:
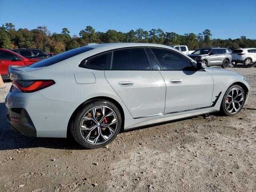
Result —
[{"label": "entire front wheel of the grey sedan, tire and rim", "polygon": [[224,94],[221,110],[227,116],[233,116],[240,112],[245,102],[244,89],[239,85],[233,85]]}]

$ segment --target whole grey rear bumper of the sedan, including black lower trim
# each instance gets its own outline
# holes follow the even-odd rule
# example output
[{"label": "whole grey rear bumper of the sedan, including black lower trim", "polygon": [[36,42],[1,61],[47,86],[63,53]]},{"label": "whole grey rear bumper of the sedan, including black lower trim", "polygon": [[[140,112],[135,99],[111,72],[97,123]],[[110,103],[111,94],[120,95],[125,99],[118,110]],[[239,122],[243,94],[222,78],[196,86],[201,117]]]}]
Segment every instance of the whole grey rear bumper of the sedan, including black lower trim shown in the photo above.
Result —
[{"label": "whole grey rear bumper of the sedan, including black lower trim", "polygon": [[49,100],[39,92],[9,92],[5,100],[11,126],[27,136],[65,138],[79,104]]}]

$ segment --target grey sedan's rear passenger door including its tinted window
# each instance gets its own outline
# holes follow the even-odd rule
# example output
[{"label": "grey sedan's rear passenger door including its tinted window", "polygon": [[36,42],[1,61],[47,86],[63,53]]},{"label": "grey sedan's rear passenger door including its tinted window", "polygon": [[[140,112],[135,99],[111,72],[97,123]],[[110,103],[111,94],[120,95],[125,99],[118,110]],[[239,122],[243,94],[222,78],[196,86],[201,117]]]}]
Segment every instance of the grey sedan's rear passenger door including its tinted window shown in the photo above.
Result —
[{"label": "grey sedan's rear passenger door including its tinted window", "polygon": [[152,70],[144,48],[114,50],[105,77],[133,118],[164,112],[164,79],[158,70]]}]

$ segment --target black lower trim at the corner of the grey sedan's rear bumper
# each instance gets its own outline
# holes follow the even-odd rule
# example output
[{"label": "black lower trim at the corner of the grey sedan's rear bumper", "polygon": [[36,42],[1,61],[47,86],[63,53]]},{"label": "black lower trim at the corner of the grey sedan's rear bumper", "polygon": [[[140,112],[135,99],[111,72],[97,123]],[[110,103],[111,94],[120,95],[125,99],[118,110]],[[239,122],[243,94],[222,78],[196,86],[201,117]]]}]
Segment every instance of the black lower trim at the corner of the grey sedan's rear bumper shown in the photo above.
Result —
[{"label": "black lower trim at the corner of the grey sedan's rear bumper", "polygon": [[36,128],[25,109],[6,107],[6,118],[12,128],[21,134],[36,137]]}]

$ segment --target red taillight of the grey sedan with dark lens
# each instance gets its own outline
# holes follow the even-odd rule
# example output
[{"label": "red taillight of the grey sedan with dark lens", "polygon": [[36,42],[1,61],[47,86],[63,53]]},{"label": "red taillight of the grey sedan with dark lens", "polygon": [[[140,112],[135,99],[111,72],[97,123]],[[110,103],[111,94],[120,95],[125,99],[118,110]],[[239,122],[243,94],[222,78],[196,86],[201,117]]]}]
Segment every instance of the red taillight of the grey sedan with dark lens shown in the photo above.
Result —
[{"label": "red taillight of the grey sedan with dark lens", "polygon": [[54,80],[13,80],[12,85],[21,92],[31,93],[55,84]]}]

